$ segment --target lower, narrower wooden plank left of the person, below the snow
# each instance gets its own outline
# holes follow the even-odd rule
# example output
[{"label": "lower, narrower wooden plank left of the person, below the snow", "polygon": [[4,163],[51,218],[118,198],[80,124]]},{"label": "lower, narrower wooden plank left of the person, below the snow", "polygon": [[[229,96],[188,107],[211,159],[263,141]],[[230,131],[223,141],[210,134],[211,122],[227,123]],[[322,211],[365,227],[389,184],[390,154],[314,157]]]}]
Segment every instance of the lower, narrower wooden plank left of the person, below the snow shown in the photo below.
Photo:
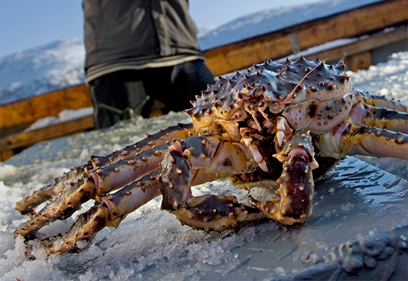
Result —
[{"label": "lower, narrower wooden plank left of the person, below the snow", "polygon": [[46,139],[83,132],[91,128],[93,128],[93,117],[86,116],[37,130],[11,134],[0,139],[0,152],[4,153],[15,148],[33,145]]}]

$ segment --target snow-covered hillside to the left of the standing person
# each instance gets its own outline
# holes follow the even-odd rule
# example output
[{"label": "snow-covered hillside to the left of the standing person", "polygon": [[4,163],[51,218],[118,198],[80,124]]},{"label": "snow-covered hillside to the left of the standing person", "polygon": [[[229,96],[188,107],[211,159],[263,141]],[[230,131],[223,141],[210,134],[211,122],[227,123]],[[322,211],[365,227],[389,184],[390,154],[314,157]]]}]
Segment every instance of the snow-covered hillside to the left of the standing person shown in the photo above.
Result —
[{"label": "snow-covered hillside to the left of the standing person", "polygon": [[80,38],[55,41],[0,61],[0,104],[41,95],[85,81]]}]

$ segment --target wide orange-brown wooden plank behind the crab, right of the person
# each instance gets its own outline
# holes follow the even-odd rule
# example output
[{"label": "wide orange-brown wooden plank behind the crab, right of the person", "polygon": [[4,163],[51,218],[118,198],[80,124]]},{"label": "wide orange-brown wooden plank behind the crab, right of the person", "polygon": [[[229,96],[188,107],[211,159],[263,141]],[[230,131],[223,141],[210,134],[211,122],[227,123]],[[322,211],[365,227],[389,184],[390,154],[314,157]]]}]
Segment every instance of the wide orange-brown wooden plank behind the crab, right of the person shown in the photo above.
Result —
[{"label": "wide orange-brown wooden plank behind the crab, right of the person", "polygon": [[268,58],[291,54],[294,35],[297,45],[303,50],[340,38],[373,33],[387,26],[402,24],[407,19],[408,1],[389,0],[217,47],[204,54],[213,74],[220,75]]}]

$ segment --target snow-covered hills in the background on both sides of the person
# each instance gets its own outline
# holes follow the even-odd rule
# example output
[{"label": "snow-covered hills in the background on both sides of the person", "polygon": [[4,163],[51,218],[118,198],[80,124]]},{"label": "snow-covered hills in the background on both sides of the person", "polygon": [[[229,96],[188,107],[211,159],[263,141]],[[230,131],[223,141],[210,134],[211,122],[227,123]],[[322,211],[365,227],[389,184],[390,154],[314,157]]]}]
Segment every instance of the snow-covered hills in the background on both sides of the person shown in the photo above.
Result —
[{"label": "snow-covered hills in the background on both sides of the person", "polygon": [[[217,28],[203,27],[198,32],[198,44],[206,50],[380,1],[383,0],[326,0],[268,9]],[[59,40],[2,58],[0,104],[83,83],[84,60],[85,48],[80,38]]]}]

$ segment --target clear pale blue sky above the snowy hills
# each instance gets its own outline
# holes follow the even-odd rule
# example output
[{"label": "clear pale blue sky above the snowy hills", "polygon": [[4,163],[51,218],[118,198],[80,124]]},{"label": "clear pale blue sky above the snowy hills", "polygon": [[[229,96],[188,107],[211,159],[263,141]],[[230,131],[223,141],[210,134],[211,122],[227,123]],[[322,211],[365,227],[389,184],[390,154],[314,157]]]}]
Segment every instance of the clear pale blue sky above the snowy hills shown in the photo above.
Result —
[{"label": "clear pale blue sky above the snowy hills", "polygon": [[[240,16],[319,0],[190,0],[197,27],[219,26]],[[58,39],[83,36],[82,0],[1,0],[0,56]]]}]

